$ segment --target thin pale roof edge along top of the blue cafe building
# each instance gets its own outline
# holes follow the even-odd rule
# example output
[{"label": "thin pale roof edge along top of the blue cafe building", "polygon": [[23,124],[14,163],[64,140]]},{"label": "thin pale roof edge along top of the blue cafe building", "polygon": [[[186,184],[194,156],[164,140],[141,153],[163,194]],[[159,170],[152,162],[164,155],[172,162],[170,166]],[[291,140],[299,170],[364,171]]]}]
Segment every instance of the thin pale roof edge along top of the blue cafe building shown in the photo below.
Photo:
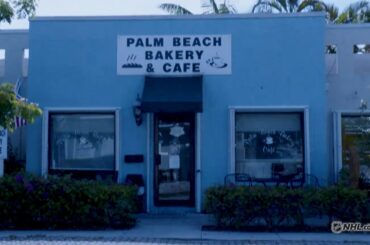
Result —
[{"label": "thin pale roof edge along top of the blue cafe building", "polygon": [[204,15],[126,15],[126,16],[39,16],[29,19],[37,21],[112,21],[112,20],[183,20],[183,19],[259,19],[259,18],[297,18],[297,17],[325,17],[324,12],[309,13],[282,13],[282,14],[204,14]]}]

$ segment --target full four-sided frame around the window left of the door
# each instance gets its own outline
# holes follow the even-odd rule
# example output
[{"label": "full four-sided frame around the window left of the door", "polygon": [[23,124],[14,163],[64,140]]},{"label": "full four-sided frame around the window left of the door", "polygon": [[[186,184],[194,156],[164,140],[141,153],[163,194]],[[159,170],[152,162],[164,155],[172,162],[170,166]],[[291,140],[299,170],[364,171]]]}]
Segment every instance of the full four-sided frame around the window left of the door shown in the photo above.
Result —
[{"label": "full four-sided frame around the window left of the door", "polygon": [[[51,169],[50,168],[50,116],[58,114],[112,114],[114,116],[115,142],[114,142],[114,169]],[[45,108],[42,124],[42,167],[41,174],[47,176],[49,171],[86,171],[86,172],[104,172],[119,171],[120,156],[120,128],[119,128],[119,108]]]}]

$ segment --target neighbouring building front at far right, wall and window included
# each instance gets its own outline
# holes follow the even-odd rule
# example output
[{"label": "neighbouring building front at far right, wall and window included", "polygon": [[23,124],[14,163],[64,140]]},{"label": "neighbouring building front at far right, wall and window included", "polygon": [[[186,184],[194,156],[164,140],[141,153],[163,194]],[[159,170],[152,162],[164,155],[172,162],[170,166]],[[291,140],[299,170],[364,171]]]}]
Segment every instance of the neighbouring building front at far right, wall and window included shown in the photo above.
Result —
[{"label": "neighbouring building front at far right, wall and window included", "polygon": [[332,176],[357,185],[370,179],[370,25],[329,25],[325,42]]}]

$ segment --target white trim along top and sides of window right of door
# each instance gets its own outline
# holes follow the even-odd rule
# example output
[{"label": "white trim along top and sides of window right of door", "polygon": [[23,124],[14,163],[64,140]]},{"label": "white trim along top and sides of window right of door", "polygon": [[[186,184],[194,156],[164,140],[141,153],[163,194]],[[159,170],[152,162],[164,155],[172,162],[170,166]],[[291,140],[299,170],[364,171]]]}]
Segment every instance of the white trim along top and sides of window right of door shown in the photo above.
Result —
[{"label": "white trim along top and sides of window right of door", "polygon": [[311,174],[310,127],[308,106],[230,106],[229,107],[229,173],[235,173],[235,114],[239,112],[303,113],[305,173]]}]

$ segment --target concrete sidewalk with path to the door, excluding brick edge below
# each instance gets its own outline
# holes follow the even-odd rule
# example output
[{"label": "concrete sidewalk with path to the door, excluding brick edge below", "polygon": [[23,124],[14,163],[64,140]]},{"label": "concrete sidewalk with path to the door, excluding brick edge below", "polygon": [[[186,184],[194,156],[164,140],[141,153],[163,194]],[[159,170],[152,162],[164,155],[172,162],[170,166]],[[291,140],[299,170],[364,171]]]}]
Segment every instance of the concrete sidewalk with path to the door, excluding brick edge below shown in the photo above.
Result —
[{"label": "concrete sidewalk with path to the door, excluding brick edge below", "polygon": [[181,241],[286,241],[370,244],[370,234],[354,233],[257,233],[202,231],[211,224],[209,216],[201,214],[140,215],[136,227],[130,230],[99,231],[1,231],[1,240],[140,240],[178,239]]}]

